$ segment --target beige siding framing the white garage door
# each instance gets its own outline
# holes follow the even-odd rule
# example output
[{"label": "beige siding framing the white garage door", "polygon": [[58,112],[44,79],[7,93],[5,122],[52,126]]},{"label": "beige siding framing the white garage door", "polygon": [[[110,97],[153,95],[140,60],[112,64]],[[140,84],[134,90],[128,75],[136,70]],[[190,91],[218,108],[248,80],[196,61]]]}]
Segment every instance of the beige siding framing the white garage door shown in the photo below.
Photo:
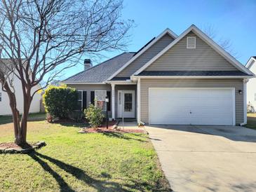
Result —
[{"label": "beige siding framing the white garage door", "polygon": [[149,123],[149,88],[235,88],[236,124],[243,123],[243,80],[241,79],[141,79],[141,121]]}]

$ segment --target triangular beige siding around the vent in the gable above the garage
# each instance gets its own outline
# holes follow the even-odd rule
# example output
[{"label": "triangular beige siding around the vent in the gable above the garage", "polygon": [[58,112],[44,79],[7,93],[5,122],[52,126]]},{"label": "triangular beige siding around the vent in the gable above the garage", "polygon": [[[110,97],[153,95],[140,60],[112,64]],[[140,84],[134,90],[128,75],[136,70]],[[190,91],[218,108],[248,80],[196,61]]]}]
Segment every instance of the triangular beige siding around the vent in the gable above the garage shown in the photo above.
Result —
[{"label": "triangular beige siding around the vent in the gable above the garage", "polygon": [[[196,36],[196,34],[190,32],[187,36]],[[238,70],[198,36],[196,36],[196,48],[187,48],[187,36],[150,64],[145,71]]]}]

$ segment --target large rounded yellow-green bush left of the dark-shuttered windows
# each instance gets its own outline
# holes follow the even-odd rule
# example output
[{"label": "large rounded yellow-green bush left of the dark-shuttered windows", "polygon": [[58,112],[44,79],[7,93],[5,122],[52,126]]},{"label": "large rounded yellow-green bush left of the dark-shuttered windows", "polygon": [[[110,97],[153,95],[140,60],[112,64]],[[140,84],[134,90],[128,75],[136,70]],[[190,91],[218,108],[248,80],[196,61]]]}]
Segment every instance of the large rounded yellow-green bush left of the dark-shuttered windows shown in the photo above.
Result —
[{"label": "large rounded yellow-green bush left of the dark-shuttered windows", "polygon": [[43,94],[43,104],[46,112],[54,118],[68,118],[69,114],[76,109],[78,92],[67,85],[50,85]]}]

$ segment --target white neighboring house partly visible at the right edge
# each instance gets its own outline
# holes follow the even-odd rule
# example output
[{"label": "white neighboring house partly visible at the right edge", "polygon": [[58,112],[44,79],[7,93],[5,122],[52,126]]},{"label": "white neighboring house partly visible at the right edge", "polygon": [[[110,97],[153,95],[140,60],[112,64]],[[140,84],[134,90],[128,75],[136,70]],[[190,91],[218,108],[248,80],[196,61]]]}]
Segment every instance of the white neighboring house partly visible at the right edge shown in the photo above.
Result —
[{"label": "white neighboring house partly visible at the right edge", "polygon": [[[252,73],[256,74],[256,56],[250,57],[245,67],[250,69]],[[247,104],[248,111],[256,112],[256,78],[250,79],[247,83]]]}]

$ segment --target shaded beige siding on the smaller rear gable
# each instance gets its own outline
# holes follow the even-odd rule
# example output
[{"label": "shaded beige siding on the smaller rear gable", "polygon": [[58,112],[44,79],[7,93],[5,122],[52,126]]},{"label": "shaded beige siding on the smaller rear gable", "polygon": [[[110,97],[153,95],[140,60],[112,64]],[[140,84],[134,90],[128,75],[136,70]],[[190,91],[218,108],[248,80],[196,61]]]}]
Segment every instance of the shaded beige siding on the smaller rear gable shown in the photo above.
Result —
[{"label": "shaded beige siding on the smaller rear gable", "polygon": [[131,76],[135,71],[140,69],[144,64],[151,60],[152,57],[154,57],[157,53],[163,50],[163,48],[166,48],[166,46],[168,46],[173,40],[174,39],[170,35],[164,35],[161,39],[159,39],[159,41],[157,41],[153,46],[151,46],[148,50],[142,53],[140,57],[137,57],[135,61],[130,63],[128,67],[123,69],[123,71],[121,71],[116,76]]}]

